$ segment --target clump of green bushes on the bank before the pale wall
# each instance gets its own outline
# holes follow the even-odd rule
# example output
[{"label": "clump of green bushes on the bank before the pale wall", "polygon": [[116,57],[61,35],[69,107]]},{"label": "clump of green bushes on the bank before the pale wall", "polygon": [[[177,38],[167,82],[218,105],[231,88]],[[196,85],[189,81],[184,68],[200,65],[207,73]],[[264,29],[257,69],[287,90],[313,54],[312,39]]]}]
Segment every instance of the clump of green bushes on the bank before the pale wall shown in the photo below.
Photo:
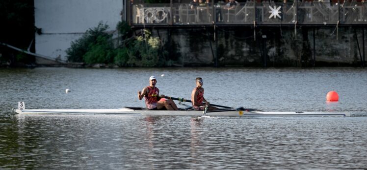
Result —
[{"label": "clump of green bushes on the bank before the pale wall", "polygon": [[69,62],[86,64],[116,64],[118,66],[169,66],[168,52],[157,37],[147,29],[143,34],[132,37],[131,28],[125,22],[118,23],[119,38],[116,45],[112,34],[106,33],[108,25],[100,23],[91,28],[66,50]]}]

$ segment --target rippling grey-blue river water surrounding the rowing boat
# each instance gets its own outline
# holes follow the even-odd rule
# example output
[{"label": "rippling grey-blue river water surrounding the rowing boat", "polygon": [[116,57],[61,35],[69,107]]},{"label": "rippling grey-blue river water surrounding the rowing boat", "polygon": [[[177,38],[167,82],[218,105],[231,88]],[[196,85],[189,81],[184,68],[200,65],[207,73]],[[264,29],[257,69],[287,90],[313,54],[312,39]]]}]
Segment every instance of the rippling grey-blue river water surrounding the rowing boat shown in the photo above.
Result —
[{"label": "rippling grey-blue river water surrounding the rowing boat", "polygon": [[[202,77],[213,104],[352,116],[198,121],[12,111],[19,101],[29,109],[144,106],[137,91],[151,75],[167,96],[189,99]],[[331,90],[339,102],[325,101]],[[0,169],[365,169],[366,131],[362,68],[0,69]]]}]

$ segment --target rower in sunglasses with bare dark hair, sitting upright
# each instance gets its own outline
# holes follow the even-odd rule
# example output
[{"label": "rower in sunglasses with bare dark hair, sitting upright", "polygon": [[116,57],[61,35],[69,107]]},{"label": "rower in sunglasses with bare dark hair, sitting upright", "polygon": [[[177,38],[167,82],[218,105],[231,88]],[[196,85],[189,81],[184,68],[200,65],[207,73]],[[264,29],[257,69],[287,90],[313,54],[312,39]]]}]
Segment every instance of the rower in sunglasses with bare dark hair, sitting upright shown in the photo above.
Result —
[{"label": "rower in sunglasses with bare dark hair, sitting upright", "polygon": [[203,79],[198,77],[195,81],[196,87],[191,93],[192,107],[195,108],[195,110],[204,110],[205,106],[208,106],[208,110],[218,110],[217,107],[210,106],[210,103],[204,98]]}]

